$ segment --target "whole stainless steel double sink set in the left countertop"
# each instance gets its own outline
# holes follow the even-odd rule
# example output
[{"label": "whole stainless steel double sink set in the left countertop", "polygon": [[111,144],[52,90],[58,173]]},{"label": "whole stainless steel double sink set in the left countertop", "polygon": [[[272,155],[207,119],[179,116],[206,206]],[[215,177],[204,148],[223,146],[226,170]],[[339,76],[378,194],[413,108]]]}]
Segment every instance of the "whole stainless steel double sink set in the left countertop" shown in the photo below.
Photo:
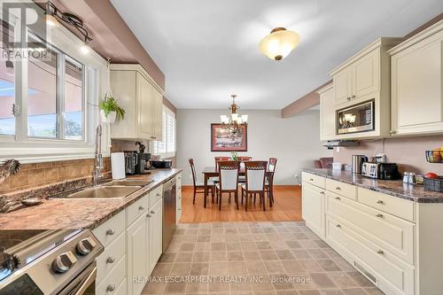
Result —
[{"label": "whole stainless steel double sink set in the left countertop", "polygon": [[57,198],[125,198],[153,181],[114,180]]}]

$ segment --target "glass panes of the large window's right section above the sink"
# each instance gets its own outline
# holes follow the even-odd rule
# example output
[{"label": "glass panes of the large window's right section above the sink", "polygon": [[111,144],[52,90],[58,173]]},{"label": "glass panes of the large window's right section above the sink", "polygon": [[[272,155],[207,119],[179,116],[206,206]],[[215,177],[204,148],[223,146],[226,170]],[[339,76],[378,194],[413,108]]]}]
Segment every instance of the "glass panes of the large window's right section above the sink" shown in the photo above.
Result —
[{"label": "glass panes of the large window's right section above the sink", "polygon": [[27,136],[82,140],[84,66],[47,47],[46,54],[27,60]]}]

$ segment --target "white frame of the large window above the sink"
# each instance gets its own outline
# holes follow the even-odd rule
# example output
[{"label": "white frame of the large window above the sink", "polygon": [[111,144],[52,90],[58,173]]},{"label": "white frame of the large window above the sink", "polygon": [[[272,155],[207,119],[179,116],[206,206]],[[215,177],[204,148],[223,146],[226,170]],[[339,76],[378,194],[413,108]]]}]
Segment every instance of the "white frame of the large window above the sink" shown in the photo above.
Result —
[{"label": "white frame of the large window above the sink", "polygon": [[[43,10],[35,4],[35,10]],[[3,18],[0,15],[0,18]],[[10,18],[11,19],[11,18]],[[19,29],[19,16],[15,16],[14,29]],[[83,140],[45,139],[27,136],[27,58],[16,58],[15,69],[15,102],[20,105],[20,114],[16,117],[15,136],[0,136],[0,160],[19,159],[22,163],[35,163],[59,159],[88,159],[94,157],[95,129],[99,121],[98,97],[103,97],[107,90],[107,63],[93,50],[82,54],[84,44],[66,27],[51,27],[47,30],[46,42],[69,55],[84,65],[84,134]],[[89,77],[95,73],[95,77]],[[89,78],[97,83],[94,89],[89,88]],[[105,156],[110,151],[109,126],[104,125],[102,133],[102,152]]]}]

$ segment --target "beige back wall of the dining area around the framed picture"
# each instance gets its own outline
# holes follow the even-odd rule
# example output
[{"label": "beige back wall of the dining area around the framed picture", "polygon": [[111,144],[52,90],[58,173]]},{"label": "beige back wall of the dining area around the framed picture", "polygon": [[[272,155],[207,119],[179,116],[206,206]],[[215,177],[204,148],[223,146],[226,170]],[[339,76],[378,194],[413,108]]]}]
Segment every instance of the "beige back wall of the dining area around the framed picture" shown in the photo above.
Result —
[{"label": "beige back wall of the dining area around the framed picture", "polygon": [[[188,159],[193,158],[198,174],[214,167],[214,157],[229,152],[211,151],[211,123],[227,110],[177,110],[177,167],[183,168],[183,184],[190,184]],[[280,111],[241,110],[248,118],[248,151],[239,155],[253,159],[276,157],[276,184],[297,184],[294,175],[301,168],[314,167],[313,160],[331,157],[332,151],[319,141],[319,112],[307,111],[282,119]]]}]

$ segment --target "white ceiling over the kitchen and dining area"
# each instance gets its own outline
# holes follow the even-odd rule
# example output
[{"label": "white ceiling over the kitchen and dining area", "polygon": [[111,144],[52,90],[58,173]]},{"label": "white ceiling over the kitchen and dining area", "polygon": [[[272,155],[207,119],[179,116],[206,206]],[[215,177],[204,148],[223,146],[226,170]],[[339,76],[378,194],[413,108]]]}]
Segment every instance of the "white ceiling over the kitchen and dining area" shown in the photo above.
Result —
[{"label": "white ceiling over the kitchen and dining area", "polygon": [[[402,36],[443,12],[441,0],[111,0],[166,75],[178,108],[281,109],[379,36]],[[258,44],[274,27],[301,42],[280,62]]]}]

